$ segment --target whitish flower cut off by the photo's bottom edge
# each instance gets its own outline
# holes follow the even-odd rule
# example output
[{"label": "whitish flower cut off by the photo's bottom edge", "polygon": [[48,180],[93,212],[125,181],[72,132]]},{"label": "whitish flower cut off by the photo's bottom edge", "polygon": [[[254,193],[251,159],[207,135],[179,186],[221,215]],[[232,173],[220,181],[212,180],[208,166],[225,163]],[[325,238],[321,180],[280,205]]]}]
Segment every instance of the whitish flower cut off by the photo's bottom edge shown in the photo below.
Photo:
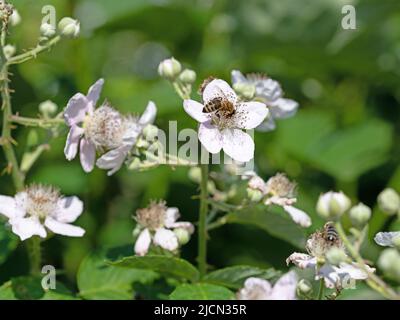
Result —
[{"label": "whitish flower cut off by the photo's bottom edge", "polygon": [[237,293],[238,300],[296,300],[297,275],[284,274],[274,286],[267,280],[248,278]]}]

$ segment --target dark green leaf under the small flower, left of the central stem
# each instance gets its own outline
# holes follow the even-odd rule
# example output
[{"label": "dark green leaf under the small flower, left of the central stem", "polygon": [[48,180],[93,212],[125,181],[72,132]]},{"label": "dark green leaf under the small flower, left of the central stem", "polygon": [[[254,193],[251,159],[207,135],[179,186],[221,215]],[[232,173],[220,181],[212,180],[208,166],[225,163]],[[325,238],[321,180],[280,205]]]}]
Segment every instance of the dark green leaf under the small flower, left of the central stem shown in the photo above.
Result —
[{"label": "dark green leaf under the small flower, left of the central stem", "polygon": [[197,269],[186,260],[161,255],[144,257],[131,256],[112,262],[113,266],[153,270],[165,276],[196,281],[199,278]]}]

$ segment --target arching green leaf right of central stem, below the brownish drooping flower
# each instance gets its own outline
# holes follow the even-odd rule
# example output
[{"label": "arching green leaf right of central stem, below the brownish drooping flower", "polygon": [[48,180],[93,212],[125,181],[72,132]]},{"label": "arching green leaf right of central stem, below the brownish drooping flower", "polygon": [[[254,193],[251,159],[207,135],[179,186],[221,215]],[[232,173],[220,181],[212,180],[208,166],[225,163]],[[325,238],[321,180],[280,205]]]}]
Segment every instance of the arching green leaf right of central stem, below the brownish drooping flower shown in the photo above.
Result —
[{"label": "arching green leaf right of central stem, below the brownish drooping flower", "polygon": [[254,225],[270,235],[285,240],[297,248],[304,248],[306,235],[304,229],[295,224],[289,217],[278,212],[279,209],[257,205],[229,213],[227,223]]}]

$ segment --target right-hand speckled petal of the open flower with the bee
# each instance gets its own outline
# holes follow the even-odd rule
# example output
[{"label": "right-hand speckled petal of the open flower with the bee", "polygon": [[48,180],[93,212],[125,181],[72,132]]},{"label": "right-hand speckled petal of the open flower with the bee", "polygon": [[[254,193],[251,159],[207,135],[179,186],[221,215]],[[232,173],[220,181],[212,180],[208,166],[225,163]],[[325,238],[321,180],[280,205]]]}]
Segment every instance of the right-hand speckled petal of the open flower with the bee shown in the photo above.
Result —
[{"label": "right-hand speckled petal of the open flower with the bee", "polygon": [[236,106],[233,121],[237,128],[254,129],[258,127],[268,115],[268,108],[261,102],[242,102]]}]

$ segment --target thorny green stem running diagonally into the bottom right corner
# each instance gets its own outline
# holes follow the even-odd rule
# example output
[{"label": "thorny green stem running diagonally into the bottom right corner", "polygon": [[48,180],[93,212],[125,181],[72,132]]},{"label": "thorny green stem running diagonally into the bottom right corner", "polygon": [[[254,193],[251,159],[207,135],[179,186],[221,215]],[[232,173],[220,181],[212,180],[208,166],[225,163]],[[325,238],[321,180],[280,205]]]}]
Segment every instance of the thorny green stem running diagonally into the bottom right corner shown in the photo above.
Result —
[{"label": "thorny green stem running diagonally into the bottom right corner", "polygon": [[351,244],[350,240],[347,238],[346,233],[344,232],[343,226],[340,222],[335,224],[336,230],[342,239],[344,245],[349,251],[350,255],[353,259],[356,260],[358,267],[361,268],[364,272],[368,274],[368,278],[366,280],[367,284],[374,290],[381,293],[385,298],[392,300],[400,300],[400,294],[396,293],[392,288],[390,288],[381,278],[379,278],[374,273],[370,272],[365,266],[364,260],[359,254],[359,252],[354,248]]}]

